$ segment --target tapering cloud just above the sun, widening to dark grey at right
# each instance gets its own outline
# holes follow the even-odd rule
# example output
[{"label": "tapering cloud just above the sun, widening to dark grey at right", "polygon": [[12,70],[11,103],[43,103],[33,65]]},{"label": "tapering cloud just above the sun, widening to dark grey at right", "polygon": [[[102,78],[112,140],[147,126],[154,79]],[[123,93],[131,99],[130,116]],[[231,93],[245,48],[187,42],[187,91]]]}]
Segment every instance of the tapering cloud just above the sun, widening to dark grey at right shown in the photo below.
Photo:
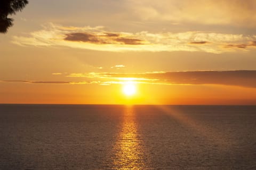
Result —
[{"label": "tapering cloud just above the sun, widening to dark grey at right", "polygon": [[189,85],[234,85],[256,87],[256,70],[235,71],[181,71],[145,72],[142,74],[83,73],[70,74],[69,77],[101,78],[106,80],[134,80],[149,84],[189,84]]}]

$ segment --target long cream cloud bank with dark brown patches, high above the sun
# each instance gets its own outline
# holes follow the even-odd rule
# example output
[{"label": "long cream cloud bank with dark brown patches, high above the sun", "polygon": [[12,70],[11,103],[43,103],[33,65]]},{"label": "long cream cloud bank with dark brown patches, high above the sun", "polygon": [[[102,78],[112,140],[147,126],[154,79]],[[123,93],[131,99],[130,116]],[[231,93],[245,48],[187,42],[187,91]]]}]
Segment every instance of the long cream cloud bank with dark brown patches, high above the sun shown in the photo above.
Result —
[{"label": "long cream cloud bank with dark brown patches, high above the sun", "polygon": [[[106,31],[104,27],[100,26],[64,27],[50,23],[45,25],[43,30],[35,31],[28,36],[14,36],[12,42],[22,46],[68,46],[111,52],[203,51],[223,53],[231,51],[230,48],[232,47],[236,47],[232,44],[248,44],[244,48],[255,46],[256,36],[198,31],[117,33]],[[226,48],[223,48],[223,46],[226,46]],[[241,47],[237,46],[237,49],[242,49]]]}]

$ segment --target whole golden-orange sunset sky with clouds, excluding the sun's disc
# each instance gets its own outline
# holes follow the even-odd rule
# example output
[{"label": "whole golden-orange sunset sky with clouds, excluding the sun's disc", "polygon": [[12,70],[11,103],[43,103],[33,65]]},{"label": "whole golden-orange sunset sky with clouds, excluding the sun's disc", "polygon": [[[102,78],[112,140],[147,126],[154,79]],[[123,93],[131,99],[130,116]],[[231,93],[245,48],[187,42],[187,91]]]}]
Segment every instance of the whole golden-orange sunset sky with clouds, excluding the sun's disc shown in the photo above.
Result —
[{"label": "whole golden-orange sunset sky with clouds, excluding the sun's disc", "polygon": [[0,34],[0,103],[256,104],[255,10],[254,0],[30,0]]}]

